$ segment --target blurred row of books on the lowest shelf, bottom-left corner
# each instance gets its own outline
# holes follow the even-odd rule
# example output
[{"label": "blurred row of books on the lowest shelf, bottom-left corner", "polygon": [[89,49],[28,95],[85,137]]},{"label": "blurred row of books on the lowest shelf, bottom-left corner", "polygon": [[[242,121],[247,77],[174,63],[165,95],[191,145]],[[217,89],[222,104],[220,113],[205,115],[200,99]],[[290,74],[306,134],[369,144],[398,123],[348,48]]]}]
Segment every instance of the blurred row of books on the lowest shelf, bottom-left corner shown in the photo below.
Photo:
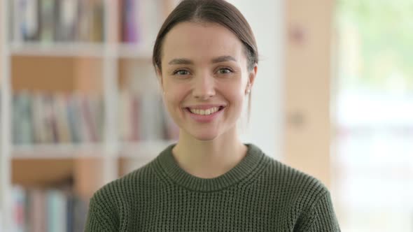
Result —
[{"label": "blurred row of books on the lowest shelf, bottom-left corner", "polygon": [[14,186],[11,196],[12,231],[84,231],[88,203],[71,191]]}]

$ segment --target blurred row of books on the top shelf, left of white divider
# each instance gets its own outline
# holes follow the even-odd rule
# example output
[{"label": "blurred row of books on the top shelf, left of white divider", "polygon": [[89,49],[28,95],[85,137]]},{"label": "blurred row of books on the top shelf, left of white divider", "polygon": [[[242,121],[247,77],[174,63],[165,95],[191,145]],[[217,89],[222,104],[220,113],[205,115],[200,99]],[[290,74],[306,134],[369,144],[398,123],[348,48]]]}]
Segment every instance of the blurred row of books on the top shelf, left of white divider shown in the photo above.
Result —
[{"label": "blurred row of books on the top shelf, left of white divider", "polygon": [[12,40],[104,41],[102,0],[16,0],[10,1]]}]

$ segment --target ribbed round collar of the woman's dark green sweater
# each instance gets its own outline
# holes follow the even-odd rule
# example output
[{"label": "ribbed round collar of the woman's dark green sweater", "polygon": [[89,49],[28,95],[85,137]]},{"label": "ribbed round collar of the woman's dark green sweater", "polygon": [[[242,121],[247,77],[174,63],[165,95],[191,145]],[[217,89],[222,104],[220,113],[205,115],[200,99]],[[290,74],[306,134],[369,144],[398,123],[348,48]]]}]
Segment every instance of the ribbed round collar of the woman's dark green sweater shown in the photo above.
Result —
[{"label": "ribbed round collar of the woman's dark green sweater", "polygon": [[160,166],[165,177],[176,184],[192,191],[218,191],[236,184],[252,175],[262,165],[264,153],[253,144],[245,144],[248,147],[246,156],[230,171],[214,178],[201,178],[184,171],[172,154],[176,144],[169,145],[163,150],[155,163]]}]

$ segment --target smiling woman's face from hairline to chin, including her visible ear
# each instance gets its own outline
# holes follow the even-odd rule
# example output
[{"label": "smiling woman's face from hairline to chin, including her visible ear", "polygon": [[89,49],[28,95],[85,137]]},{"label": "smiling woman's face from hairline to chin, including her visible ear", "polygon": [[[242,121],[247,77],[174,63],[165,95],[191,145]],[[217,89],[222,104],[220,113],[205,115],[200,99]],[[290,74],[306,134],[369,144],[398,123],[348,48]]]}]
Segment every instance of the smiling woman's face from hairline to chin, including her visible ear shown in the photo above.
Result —
[{"label": "smiling woman's face from hairline to chin, including her visible ear", "polygon": [[256,73],[256,68],[248,73],[237,36],[219,24],[182,22],[169,31],[162,48],[163,98],[181,133],[198,140],[237,133]]}]

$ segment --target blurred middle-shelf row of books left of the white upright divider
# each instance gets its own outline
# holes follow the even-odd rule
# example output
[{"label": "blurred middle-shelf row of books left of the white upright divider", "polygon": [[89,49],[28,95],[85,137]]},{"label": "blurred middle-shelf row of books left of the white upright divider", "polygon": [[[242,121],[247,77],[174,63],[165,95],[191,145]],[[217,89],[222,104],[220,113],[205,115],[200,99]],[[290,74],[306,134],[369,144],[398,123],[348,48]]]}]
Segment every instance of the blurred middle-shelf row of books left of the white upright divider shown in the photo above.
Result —
[{"label": "blurred middle-shelf row of books left of the white upright divider", "polygon": [[22,91],[13,95],[13,143],[97,143],[103,140],[99,96]]}]

